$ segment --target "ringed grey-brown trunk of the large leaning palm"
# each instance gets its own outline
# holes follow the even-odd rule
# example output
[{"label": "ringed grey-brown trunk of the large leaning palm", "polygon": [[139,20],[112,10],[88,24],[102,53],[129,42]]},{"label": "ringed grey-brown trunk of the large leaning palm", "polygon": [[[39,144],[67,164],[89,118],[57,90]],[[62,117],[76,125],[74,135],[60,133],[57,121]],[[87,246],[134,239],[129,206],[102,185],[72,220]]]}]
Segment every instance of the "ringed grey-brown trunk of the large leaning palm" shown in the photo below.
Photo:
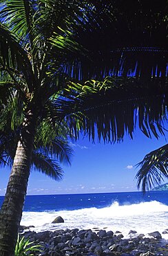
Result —
[{"label": "ringed grey-brown trunk of the large leaning palm", "polygon": [[36,129],[36,113],[27,111],[23,122],[6,196],[0,211],[0,255],[14,256],[17,233],[21,221],[30,175],[30,164]]}]

